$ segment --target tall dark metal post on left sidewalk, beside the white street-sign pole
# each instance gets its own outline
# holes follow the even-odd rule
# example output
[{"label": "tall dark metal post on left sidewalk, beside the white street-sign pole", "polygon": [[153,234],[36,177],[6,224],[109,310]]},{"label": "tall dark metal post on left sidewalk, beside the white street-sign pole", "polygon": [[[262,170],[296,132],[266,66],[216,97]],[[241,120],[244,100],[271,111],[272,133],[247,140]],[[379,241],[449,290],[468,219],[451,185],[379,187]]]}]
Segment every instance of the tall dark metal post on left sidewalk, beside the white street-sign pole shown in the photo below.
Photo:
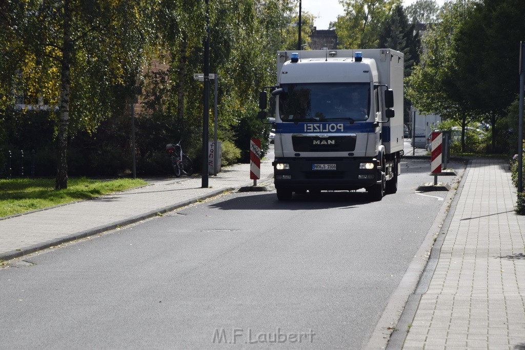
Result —
[{"label": "tall dark metal post on left sidewalk, beside the white street-sign pole", "polygon": [[206,39],[204,40],[204,111],[202,113],[202,188],[208,188],[209,139],[209,0],[206,0]]}]

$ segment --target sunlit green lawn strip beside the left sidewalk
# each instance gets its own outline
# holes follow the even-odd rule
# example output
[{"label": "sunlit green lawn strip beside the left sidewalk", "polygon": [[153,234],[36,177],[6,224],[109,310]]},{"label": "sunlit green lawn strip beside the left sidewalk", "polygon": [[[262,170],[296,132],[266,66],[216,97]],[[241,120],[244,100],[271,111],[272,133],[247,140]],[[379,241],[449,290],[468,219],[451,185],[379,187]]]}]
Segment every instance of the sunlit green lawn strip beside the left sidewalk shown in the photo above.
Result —
[{"label": "sunlit green lawn strip beside the left sidewalk", "polygon": [[98,197],[147,184],[141,179],[96,181],[69,178],[68,188],[55,190],[55,179],[0,179],[0,217]]}]

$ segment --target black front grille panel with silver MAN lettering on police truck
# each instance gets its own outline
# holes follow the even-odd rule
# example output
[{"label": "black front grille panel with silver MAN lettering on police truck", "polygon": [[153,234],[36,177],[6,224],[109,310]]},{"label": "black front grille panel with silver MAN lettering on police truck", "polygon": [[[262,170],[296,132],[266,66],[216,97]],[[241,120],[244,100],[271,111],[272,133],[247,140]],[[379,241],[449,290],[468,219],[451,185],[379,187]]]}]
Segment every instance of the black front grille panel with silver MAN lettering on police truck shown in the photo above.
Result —
[{"label": "black front grille panel with silver MAN lettering on police truck", "polygon": [[292,135],[293,151],[295,152],[353,152],[355,150],[355,134],[346,135]]}]

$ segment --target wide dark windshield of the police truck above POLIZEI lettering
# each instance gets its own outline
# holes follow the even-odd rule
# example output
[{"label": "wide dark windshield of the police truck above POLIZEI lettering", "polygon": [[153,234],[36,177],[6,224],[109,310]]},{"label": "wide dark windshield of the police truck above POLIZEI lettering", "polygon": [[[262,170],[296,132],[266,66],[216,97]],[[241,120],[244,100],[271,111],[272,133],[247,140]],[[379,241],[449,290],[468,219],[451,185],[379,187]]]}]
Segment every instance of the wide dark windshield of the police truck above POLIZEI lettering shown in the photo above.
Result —
[{"label": "wide dark windshield of the police truck above POLIZEI lettering", "polygon": [[283,122],[365,121],[370,112],[370,83],[283,84],[279,115]]}]

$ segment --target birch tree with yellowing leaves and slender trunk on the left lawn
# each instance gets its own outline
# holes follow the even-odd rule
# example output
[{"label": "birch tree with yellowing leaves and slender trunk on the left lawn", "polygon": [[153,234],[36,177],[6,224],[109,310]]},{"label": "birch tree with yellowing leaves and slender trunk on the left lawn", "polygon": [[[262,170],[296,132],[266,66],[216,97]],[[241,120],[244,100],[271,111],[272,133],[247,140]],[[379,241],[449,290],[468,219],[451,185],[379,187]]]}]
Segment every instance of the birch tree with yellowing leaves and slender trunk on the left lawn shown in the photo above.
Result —
[{"label": "birch tree with yellowing leaves and slender trunk on the left lawn", "polygon": [[0,8],[9,32],[0,49],[9,52],[14,45],[19,55],[2,67],[14,77],[11,84],[3,80],[6,89],[22,86],[26,104],[56,111],[51,118],[59,150],[57,189],[67,188],[70,131],[96,130],[114,108],[123,107],[119,101],[135,84],[150,8],[144,5],[142,0],[23,0]]}]

